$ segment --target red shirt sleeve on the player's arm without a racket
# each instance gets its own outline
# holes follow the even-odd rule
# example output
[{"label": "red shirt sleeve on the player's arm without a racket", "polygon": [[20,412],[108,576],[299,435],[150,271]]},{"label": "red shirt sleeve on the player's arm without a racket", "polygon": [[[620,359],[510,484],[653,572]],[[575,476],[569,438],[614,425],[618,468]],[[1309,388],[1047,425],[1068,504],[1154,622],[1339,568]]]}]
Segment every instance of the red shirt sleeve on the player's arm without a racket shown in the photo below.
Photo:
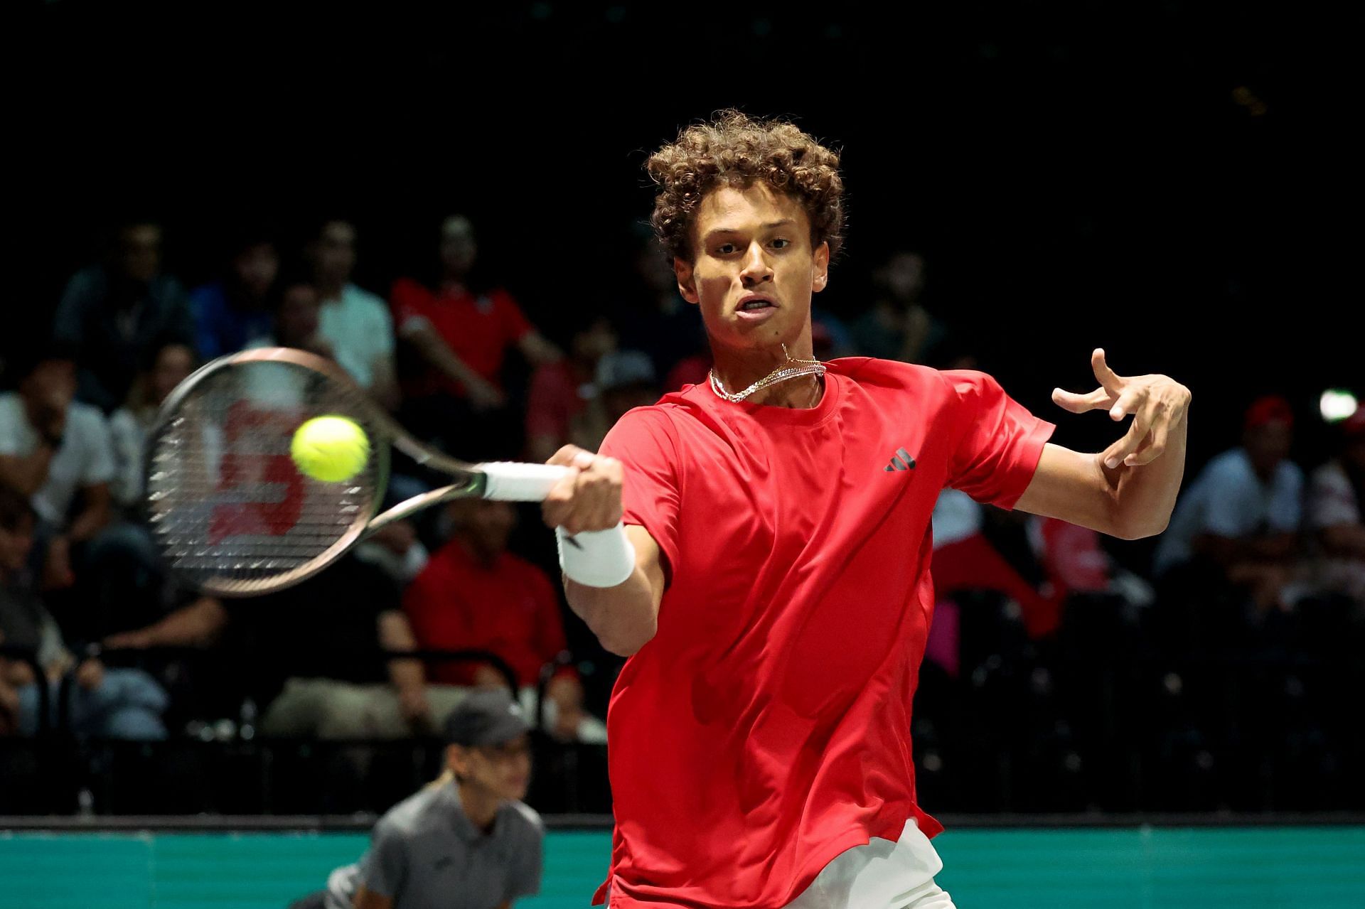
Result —
[{"label": "red shirt sleeve on the player's arm without a racket", "polygon": [[1014,508],[1057,427],[1029,414],[986,373],[947,370],[942,375],[956,411],[947,485],[981,504]]}]

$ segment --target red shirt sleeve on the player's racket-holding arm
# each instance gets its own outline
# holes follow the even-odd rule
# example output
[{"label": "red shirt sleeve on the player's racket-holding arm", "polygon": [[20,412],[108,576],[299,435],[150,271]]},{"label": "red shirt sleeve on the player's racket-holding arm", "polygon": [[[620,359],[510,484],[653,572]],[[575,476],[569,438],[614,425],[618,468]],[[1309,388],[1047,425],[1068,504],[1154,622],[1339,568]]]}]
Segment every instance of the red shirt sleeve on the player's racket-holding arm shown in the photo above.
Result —
[{"label": "red shirt sleeve on the player's racket-holding arm", "polygon": [[625,465],[624,521],[643,527],[659,545],[663,575],[672,581],[677,564],[681,460],[667,415],[654,407],[629,411],[602,439],[601,453]]}]

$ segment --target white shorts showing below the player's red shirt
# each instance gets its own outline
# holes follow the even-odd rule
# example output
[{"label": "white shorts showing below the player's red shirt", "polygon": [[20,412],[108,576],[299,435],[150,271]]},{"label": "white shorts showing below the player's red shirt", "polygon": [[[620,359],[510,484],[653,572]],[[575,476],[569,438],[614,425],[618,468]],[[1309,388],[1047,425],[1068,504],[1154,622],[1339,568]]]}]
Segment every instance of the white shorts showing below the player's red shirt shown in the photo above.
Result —
[{"label": "white shorts showing below the player's red shirt", "polygon": [[895,842],[872,837],[824,865],[786,909],[954,909],[934,883],[943,860],[910,818]]}]

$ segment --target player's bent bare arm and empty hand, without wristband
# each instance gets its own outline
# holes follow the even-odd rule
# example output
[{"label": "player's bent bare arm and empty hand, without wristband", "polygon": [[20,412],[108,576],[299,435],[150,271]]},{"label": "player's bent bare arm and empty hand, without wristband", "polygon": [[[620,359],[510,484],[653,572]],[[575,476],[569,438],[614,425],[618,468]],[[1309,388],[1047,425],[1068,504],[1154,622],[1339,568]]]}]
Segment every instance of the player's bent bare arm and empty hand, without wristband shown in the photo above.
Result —
[{"label": "player's bent bare arm and empty hand, without wristband", "polygon": [[1073,414],[1108,411],[1114,422],[1132,415],[1132,426],[1099,454],[1046,445],[1016,508],[1121,539],[1153,536],[1170,523],[1185,474],[1190,390],[1167,375],[1121,377],[1103,349],[1091,355],[1091,367],[1097,389],[1057,389],[1052,400]]}]

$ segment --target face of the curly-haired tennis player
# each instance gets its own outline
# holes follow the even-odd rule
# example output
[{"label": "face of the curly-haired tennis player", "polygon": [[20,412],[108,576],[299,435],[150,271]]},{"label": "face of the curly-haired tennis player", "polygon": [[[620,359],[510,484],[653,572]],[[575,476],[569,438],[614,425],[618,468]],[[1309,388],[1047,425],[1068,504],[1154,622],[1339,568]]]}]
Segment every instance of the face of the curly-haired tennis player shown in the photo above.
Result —
[{"label": "face of the curly-haired tennis player", "polygon": [[830,247],[811,246],[811,222],[794,198],[766,183],[719,187],[702,199],[693,261],[677,259],[678,288],[702,307],[713,344],[792,345],[809,332],[811,293],[824,289]]}]

